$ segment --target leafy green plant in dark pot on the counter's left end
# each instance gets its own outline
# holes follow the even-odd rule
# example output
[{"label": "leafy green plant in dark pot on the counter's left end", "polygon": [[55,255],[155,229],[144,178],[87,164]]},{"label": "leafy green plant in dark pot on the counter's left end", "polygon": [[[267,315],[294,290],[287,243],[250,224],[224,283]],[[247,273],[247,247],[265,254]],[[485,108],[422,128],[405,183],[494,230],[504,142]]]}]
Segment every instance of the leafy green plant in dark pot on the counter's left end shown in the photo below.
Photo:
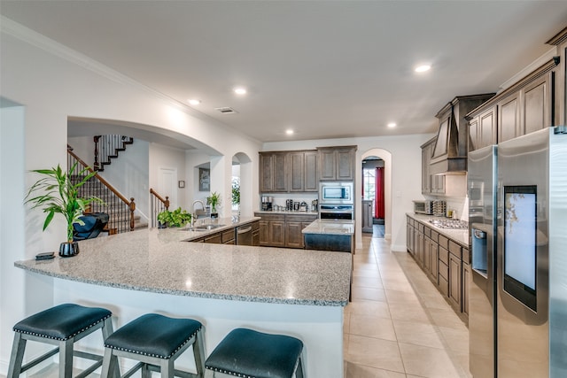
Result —
[{"label": "leafy green plant in dark pot on the counter's left end", "polygon": [[77,172],[79,178],[73,182],[71,177],[75,174],[77,163],[69,172],[61,169],[61,166],[50,169],[35,169],[30,172],[43,175],[31,186],[25,197],[25,204],[32,204],[32,209],[40,208],[47,213],[43,221],[43,231],[50,225],[55,214],[61,214],[66,219],[67,235],[66,242],[59,246],[59,256],[70,257],[79,253],[79,244],[73,240],[75,223],[84,225],[81,220],[82,213],[91,202],[103,201],[98,197],[79,197],[79,188],[89,181],[97,172],[89,172],[89,167]]}]

